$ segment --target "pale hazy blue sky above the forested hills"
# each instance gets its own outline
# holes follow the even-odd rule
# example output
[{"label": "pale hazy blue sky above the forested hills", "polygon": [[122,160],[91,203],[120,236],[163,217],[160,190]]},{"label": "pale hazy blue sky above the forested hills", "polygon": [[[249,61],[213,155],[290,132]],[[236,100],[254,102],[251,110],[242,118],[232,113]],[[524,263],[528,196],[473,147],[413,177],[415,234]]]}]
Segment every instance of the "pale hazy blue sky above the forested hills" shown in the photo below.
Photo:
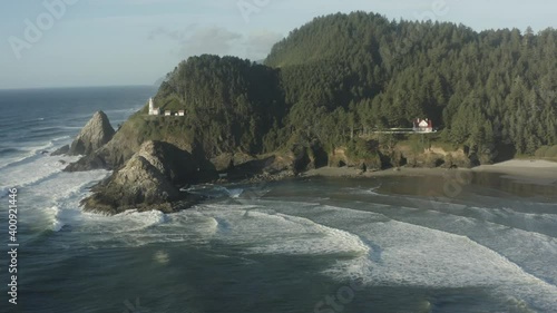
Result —
[{"label": "pale hazy blue sky above the forested hills", "polygon": [[553,0],[2,0],[0,89],[154,85],[189,56],[261,60],[314,17],[355,10],[478,31],[557,28]]}]

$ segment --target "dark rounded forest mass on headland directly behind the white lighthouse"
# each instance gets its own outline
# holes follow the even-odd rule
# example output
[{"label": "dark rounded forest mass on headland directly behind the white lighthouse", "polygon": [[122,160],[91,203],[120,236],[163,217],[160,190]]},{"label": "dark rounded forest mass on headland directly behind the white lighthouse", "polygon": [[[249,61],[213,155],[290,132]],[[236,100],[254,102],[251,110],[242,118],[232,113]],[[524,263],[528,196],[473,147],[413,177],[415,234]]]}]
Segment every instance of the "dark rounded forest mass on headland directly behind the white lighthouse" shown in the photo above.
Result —
[{"label": "dark rounded forest mass on headland directly behind the white lighthouse", "polygon": [[278,71],[248,60],[192,57],[168,74],[155,100],[186,109],[185,125],[208,155],[263,150],[263,137],[278,127],[285,106]]}]

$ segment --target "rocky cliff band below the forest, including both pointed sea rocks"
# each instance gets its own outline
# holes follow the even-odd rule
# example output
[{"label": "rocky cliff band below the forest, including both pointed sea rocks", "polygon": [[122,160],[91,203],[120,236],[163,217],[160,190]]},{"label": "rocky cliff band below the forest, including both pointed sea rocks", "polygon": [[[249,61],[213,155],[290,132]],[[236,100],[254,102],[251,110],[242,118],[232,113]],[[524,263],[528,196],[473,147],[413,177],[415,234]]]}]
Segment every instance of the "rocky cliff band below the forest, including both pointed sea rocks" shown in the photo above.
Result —
[{"label": "rocky cliff band below the forest, including both pointed sea rocks", "polygon": [[186,208],[198,199],[179,192],[178,186],[215,182],[219,177],[274,180],[328,165],[362,170],[403,165],[460,167],[467,159],[463,151],[443,155],[431,146],[395,145],[382,150],[373,139],[359,139],[332,153],[325,151],[316,139],[291,140],[282,149],[260,156],[240,148],[217,149],[216,155],[205,153],[204,143],[198,140],[183,119],[149,117],[139,111],[114,134],[106,115],[97,113],[70,148],[71,154],[85,156],[66,170],[114,170],[81,204],[86,211],[118,214],[126,209],[175,212]]}]

